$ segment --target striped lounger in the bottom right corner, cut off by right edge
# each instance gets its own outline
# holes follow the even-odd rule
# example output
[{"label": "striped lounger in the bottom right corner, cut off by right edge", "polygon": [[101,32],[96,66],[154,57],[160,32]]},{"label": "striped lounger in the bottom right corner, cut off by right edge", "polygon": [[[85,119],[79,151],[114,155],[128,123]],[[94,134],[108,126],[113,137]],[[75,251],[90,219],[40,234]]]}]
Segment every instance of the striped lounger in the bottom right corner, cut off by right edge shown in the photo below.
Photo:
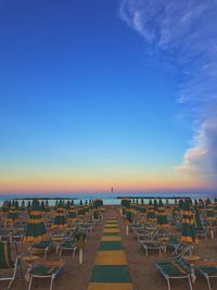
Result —
[{"label": "striped lounger in the bottom right corner, cut off by right edge", "polygon": [[212,290],[210,278],[217,278],[217,261],[204,260],[197,261],[194,265],[196,276],[203,276],[208,285],[208,290]]}]

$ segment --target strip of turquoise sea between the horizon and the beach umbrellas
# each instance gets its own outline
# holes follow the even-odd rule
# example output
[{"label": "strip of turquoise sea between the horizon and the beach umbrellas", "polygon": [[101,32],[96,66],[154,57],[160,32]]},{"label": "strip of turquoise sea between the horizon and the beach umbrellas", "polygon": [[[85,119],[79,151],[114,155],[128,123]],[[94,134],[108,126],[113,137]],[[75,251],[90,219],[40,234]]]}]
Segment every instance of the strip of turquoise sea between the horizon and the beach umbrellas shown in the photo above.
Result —
[{"label": "strip of turquoise sea between the horizon and the beach umbrellas", "polygon": [[[169,203],[174,203],[175,199],[178,198],[191,198],[192,200],[195,199],[207,199],[209,198],[210,200],[214,200],[217,198],[217,192],[216,193],[206,193],[206,192],[193,192],[193,193],[180,193],[180,192],[103,192],[103,193],[63,193],[63,192],[49,192],[49,193],[38,193],[38,194],[33,194],[33,193],[1,193],[0,192],[0,206],[3,204],[4,200],[12,200],[12,199],[17,199],[18,202],[24,199],[34,199],[37,198],[39,200],[43,200],[49,198],[49,204],[54,205],[56,199],[74,199],[74,204],[78,205],[80,201],[85,203],[86,200],[90,199],[102,199],[104,205],[119,205],[122,202],[122,198],[131,198],[131,199],[139,199],[140,200],[143,198],[144,203],[149,203],[150,199],[156,198],[156,199],[162,199],[163,202],[166,202],[166,199],[168,199]],[[25,203],[27,204],[28,200],[25,200]]]}]

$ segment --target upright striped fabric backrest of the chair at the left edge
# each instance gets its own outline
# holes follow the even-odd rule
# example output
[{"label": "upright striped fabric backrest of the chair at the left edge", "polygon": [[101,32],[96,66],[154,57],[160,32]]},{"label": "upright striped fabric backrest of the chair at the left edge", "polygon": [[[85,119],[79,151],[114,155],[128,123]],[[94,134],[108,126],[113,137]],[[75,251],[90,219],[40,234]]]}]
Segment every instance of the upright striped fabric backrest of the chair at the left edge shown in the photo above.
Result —
[{"label": "upright striped fabric backrest of the chair at the left edge", "polygon": [[0,269],[13,268],[11,243],[0,241]]}]

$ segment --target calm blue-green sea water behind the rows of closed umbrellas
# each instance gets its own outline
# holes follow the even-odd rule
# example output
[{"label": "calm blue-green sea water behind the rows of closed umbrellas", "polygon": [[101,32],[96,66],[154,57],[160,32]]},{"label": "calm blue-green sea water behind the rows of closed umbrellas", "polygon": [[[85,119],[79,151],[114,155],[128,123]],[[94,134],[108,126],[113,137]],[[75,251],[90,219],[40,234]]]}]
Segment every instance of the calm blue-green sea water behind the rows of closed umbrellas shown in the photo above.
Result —
[{"label": "calm blue-green sea water behind the rows of closed umbrellas", "polygon": [[[75,199],[75,205],[78,205],[80,200],[82,200],[82,202],[85,202],[86,200],[90,200],[90,199],[103,199],[103,203],[104,204],[120,204],[120,199],[117,199],[117,197],[138,197],[138,198],[148,198],[144,200],[145,203],[149,202],[149,198],[151,197],[155,197],[155,198],[162,198],[163,202],[165,202],[165,198],[179,198],[179,197],[190,197],[192,199],[206,199],[206,198],[217,198],[217,193],[165,193],[165,192],[161,192],[161,193],[92,193],[92,194],[86,194],[86,193],[48,193],[48,194],[2,194],[0,193],[0,206],[2,205],[4,200],[8,199],[17,199],[17,198],[39,198],[42,200],[42,198],[51,198],[53,200],[49,201],[50,205],[54,205],[55,203],[55,198],[68,198],[68,199]],[[169,202],[174,202],[174,200],[170,200]],[[27,202],[26,202],[27,203]]]}]

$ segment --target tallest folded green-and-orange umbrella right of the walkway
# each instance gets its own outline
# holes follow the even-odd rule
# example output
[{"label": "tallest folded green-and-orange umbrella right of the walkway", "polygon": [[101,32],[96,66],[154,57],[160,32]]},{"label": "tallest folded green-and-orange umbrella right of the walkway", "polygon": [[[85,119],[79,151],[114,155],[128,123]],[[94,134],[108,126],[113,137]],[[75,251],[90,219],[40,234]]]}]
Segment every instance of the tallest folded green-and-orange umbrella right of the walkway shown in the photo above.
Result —
[{"label": "tallest folded green-and-orange umbrella right of the walkway", "polygon": [[183,203],[181,241],[189,243],[196,242],[193,213],[190,209],[190,202],[188,200],[184,200]]}]

